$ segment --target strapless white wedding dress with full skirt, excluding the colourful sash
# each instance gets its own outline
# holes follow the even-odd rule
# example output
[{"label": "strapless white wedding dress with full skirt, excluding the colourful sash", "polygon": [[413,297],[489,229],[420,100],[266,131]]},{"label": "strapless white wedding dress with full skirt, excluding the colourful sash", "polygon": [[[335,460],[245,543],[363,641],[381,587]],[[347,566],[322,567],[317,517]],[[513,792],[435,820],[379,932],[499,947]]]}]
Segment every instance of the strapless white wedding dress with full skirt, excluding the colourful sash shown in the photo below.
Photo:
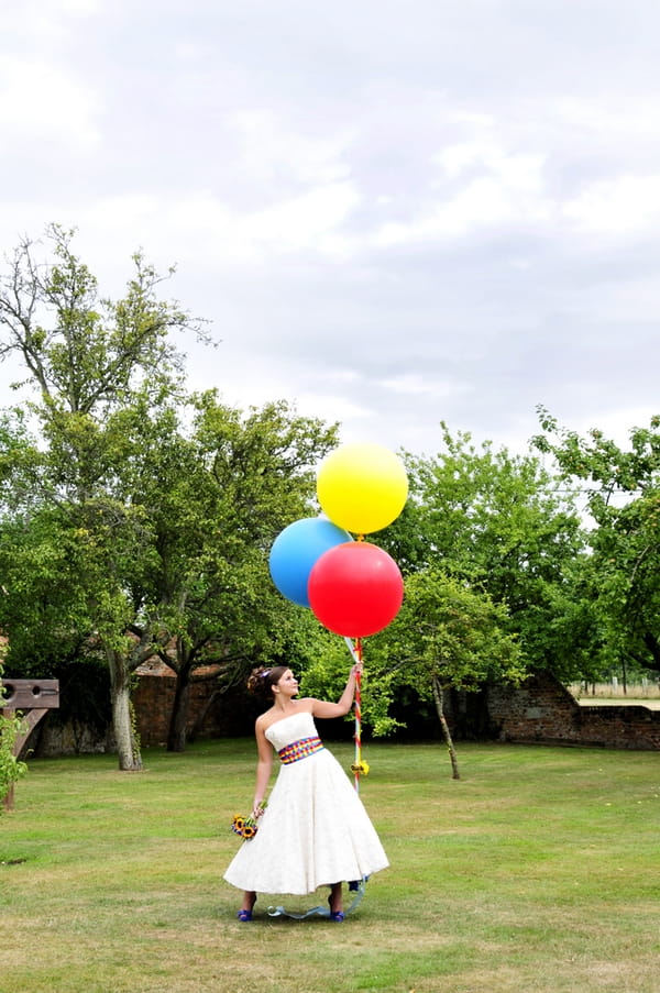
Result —
[{"label": "strapless white wedding dress with full skirt, excluding the colourful sash", "polygon": [[[316,735],[314,717],[305,711],[266,730],[277,752]],[[388,864],[351,781],[323,748],[282,764],[258,830],[241,841],[224,879],[239,890],[302,895],[362,880]]]}]

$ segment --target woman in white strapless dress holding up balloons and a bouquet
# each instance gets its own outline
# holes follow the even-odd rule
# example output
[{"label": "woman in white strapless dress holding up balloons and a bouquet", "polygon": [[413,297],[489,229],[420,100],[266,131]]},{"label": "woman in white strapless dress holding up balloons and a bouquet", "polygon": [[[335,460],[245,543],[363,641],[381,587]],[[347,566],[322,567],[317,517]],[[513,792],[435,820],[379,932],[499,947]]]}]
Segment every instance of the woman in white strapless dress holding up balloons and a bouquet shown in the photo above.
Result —
[{"label": "woman in white strapless dress holding up balloons and a bouquet", "polygon": [[[334,757],[321,743],[315,717],[342,717],[353,705],[355,674],[333,704],[295,699],[298,682],[278,665],[254,672],[248,688],[272,706],[256,719],[256,785],[252,816],[256,835],[244,841],[224,873],[243,890],[240,920],[252,920],[257,892],[312,893],[330,886],[330,919],[344,919],[342,882],[360,881],[389,863],[362,801]],[[282,765],[264,808],[275,751]]]}]

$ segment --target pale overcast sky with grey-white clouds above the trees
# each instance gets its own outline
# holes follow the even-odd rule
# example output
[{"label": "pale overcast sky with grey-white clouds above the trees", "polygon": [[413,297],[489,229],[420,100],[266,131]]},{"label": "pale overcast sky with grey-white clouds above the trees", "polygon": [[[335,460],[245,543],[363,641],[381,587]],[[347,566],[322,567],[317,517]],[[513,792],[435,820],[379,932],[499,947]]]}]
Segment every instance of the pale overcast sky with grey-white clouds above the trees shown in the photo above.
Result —
[{"label": "pale overcast sky with grey-white clouds above the trees", "polygon": [[0,249],[176,264],[195,387],[419,454],[660,412],[657,0],[0,11]]}]

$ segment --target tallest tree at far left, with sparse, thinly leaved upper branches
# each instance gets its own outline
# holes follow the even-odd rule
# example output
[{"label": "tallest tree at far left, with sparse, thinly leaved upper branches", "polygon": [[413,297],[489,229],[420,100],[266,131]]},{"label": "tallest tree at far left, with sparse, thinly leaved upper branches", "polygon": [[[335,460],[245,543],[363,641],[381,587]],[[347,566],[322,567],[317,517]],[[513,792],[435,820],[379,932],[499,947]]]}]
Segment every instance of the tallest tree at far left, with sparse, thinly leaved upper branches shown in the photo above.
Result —
[{"label": "tallest tree at far left, with sparse, thinly leaved upper branches", "polygon": [[[122,411],[158,406],[180,388],[182,355],[170,333],[202,335],[200,323],[157,293],[162,277],[141,254],[119,301],[99,297],[96,278],[74,254],[74,232],[57,225],[46,238],[54,261],[42,263],[29,240],[16,249],[0,279],[0,357],[22,361],[33,389],[28,409],[38,426],[36,443],[14,438],[3,453],[12,476],[14,509],[30,516],[57,508],[58,526],[73,542],[77,603],[110,669],[120,768],[141,765],[130,716],[132,672],[154,651],[158,630],[133,630],[135,604],[125,582],[148,569],[148,522],[141,508],[118,499],[124,457],[139,432],[123,433]],[[12,463],[20,451],[22,459]],[[30,484],[30,485],[28,485]],[[121,489],[121,487],[119,487]]]}]

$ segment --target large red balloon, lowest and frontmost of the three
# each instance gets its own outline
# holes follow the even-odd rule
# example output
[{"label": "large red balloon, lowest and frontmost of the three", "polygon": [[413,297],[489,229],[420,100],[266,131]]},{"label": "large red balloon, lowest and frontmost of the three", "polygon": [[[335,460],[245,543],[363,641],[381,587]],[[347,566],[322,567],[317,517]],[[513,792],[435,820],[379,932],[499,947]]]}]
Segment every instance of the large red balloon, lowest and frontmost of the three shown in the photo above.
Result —
[{"label": "large red balloon, lowest and frontmost of the three", "polygon": [[387,552],[352,541],[321,555],[309,574],[308,594],[323,627],[344,638],[366,638],[398,614],[404,581]]}]

